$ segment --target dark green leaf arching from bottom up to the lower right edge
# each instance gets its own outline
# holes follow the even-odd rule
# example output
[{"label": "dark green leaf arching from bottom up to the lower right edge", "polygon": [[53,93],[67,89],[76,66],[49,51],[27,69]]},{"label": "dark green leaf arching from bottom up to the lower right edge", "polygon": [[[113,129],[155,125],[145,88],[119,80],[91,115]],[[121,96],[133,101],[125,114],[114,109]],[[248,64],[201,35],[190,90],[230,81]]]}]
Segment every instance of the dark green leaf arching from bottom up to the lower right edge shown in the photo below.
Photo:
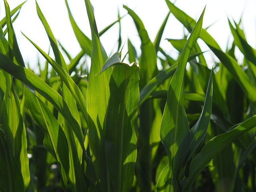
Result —
[{"label": "dark green leaf arching from bottom up to the lower right edge", "polygon": [[190,164],[189,176],[184,180],[182,191],[186,192],[190,190],[198,174],[210,163],[216,154],[239,138],[239,136],[255,127],[256,115],[252,116],[242,124],[230,128],[228,132],[220,134],[207,142],[201,152],[193,158]]}]

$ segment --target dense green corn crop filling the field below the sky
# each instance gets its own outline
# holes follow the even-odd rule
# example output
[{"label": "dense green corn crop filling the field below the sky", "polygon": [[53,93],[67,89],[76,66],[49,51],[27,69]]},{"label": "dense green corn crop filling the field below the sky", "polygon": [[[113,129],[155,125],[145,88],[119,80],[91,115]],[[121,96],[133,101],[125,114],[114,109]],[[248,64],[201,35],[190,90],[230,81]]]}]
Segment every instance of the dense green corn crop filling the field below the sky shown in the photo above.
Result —
[{"label": "dense green corn crop filling the field below the sky", "polygon": [[[131,39],[122,53],[119,31],[117,52],[108,56],[100,36],[115,24],[121,30],[122,17],[98,32],[94,8],[85,0],[90,39],[65,2],[81,51],[70,56],[36,2],[54,58],[23,34],[46,60],[35,74],[24,63],[12,26],[25,2],[10,11],[4,0],[1,192],[256,190],[256,51],[239,23],[228,21],[234,42],[224,52],[202,28],[207,8],[196,22],[166,0],[170,12],[153,42],[138,15],[123,6],[138,31],[141,55]],[[178,59],[160,46],[170,14],[188,31],[184,39],[167,39]],[[220,60],[212,69],[198,38]]]}]

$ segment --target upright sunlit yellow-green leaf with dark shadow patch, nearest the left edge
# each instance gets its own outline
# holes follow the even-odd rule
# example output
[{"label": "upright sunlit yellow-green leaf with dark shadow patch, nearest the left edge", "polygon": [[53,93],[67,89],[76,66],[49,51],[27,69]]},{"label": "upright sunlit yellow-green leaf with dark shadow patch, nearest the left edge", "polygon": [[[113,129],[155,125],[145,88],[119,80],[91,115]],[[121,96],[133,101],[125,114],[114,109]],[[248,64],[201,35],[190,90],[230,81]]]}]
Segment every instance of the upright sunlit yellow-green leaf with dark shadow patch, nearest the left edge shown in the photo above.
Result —
[{"label": "upright sunlit yellow-green leaf with dark shadow patch, nearest the left edge", "polygon": [[26,129],[21,115],[20,100],[14,91],[12,77],[6,72],[4,72],[4,76],[6,78],[6,91],[0,112],[0,123],[5,128],[4,133],[8,148],[20,167],[23,186],[26,188],[30,181]]}]

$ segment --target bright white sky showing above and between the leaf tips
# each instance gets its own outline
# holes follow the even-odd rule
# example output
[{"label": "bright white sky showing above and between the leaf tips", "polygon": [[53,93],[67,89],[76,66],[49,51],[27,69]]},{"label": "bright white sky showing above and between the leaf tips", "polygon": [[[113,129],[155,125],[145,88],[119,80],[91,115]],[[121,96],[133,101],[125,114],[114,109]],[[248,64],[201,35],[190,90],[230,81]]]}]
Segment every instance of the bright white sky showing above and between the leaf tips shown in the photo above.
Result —
[{"label": "bright white sky showing above and between the leaf tips", "polygon": [[[8,0],[11,10],[22,2],[23,0]],[[37,2],[56,39],[70,52],[71,56],[76,56],[81,48],[72,31],[65,1],[38,0]],[[173,2],[173,0],[171,0],[171,2]],[[68,0],[68,3],[78,26],[84,34],[90,37],[90,26],[86,15],[84,0]],[[165,0],[91,0],[91,3],[94,6],[94,13],[99,31],[117,19],[118,8],[121,16],[126,14],[126,10],[122,8],[122,4],[125,4],[133,9],[142,19],[152,42],[154,42],[154,38],[168,13],[168,6],[166,5]],[[208,32],[215,38],[223,50],[226,49],[228,40],[232,40],[228,26],[228,18],[238,22],[243,13],[242,28],[244,28],[249,44],[254,48],[256,47],[256,0],[177,0],[175,5],[196,20],[199,18],[206,5],[203,27],[208,27],[216,22],[209,28]],[[4,16],[4,2],[1,0],[0,19]],[[33,63],[36,64],[40,54],[21,34],[21,32],[23,32],[32,41],[38,44],[40,48],[45,52],[48,52],[48,37],[36,14],[34,0],[28,0],[23,5],[18,19],[14,22],[14,29],[25,62],[29,62],[31,66]],[[127,42],[128,37],[139,50],[140,39],[130,16],[126,16],[122,19],[122,37],[123,44],[125,40]],[[170,43],[164,39],[182,37],[182,24],[171,15],[160,46],[166,50],[166,52],[170,54],[174,53],[175,55],[176,50],[174,50]],[[116,51],[117,40],[118,25],[111,28],[111,30],[101,37],[102,44],[109,56],[110,53]],[[125,45],[124,52],[127,50],[126,47],[127,45]],[[206,50],[208,49],[206,48]]]}]

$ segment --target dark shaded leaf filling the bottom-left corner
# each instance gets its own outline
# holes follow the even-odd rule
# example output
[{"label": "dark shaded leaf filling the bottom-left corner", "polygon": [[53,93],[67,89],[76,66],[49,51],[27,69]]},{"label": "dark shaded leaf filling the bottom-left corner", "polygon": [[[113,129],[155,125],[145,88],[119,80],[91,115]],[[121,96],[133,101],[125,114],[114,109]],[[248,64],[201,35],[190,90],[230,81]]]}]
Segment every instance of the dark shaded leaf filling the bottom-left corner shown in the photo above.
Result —
[{"label": "dark shaded leaf filling the bottom-left corner", "polygon": [[0,190],[1,192],[24,192],[20,164],[10,152],[3,130],[5,128],[0,124]]}]

